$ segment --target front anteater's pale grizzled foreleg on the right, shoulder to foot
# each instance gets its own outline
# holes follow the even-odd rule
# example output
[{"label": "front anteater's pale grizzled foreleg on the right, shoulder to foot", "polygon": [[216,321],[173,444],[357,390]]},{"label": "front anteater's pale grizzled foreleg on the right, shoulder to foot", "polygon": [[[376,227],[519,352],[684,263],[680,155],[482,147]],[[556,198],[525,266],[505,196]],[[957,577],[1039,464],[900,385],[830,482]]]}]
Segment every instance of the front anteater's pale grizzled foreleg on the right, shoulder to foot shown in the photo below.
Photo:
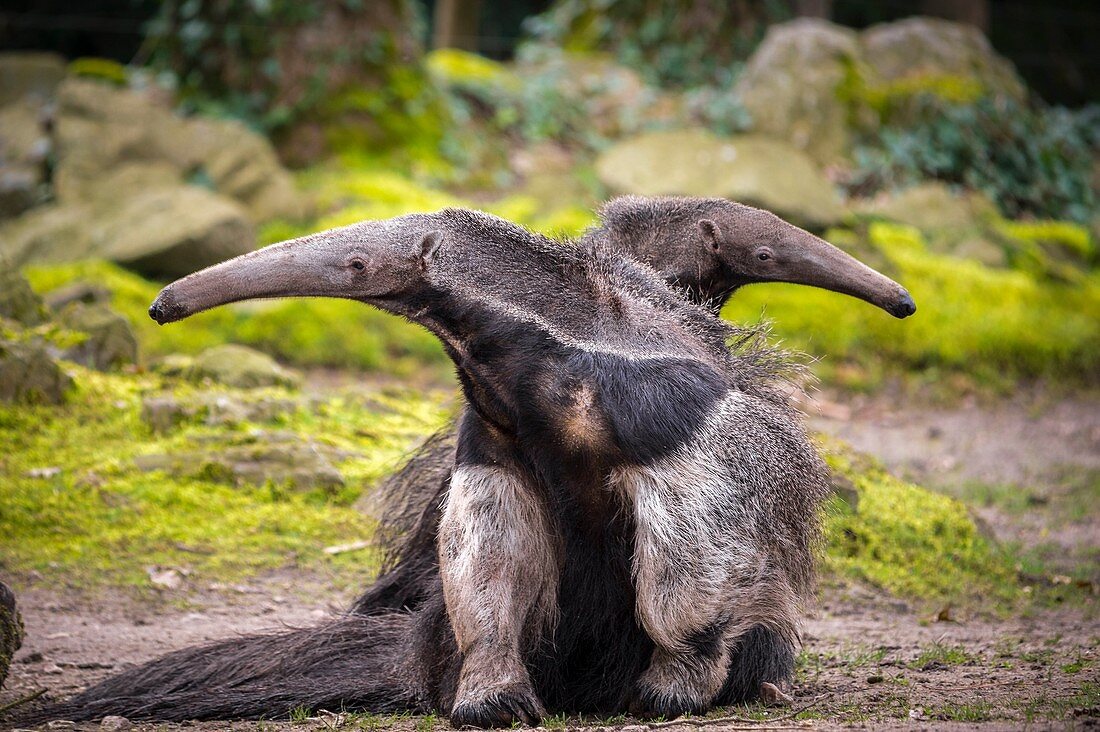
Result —
[{"label": "front anteater's pale grizzled foreleg on the right, shoulder to foot", "polygon": [[795,597],[758,535],[759,509],[721,463],[693,452],[616,479],[634,503],[638,619],[657,645],[631,702],[642,717],[702,712],[730,691],[728,681],[743,699],[758,695],[741,687],[746,677],[785,664],[777,656],[755,669],[760,659],[734,654],[788,654],[796,637]]}]

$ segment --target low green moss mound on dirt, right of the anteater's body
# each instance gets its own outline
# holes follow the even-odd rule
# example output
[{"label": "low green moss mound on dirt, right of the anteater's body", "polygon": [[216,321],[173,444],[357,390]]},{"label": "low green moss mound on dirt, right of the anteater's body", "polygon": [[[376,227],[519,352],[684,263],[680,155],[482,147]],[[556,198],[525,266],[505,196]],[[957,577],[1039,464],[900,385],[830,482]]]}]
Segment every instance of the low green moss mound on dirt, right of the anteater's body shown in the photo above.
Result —
[{"label": "low green moss mound on dirt, right of the anteater's body", "polygon": [[837,443],[827,445],[826,460],[859,496],[855,510],[839,499],[828,505],[828,571],[926,601],[1001,605],[1019,597],[1011,562],[978,532],[966,505]]}]

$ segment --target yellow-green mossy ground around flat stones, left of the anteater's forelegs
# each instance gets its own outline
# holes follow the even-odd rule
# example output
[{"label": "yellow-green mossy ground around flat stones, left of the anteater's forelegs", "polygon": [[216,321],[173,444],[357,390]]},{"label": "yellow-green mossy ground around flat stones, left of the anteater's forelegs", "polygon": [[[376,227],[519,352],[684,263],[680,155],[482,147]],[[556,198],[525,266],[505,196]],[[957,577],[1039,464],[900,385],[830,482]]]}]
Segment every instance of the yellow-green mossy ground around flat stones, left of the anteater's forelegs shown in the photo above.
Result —
[{"label": "yellow-green mossy ground around flat stones, left of the anteater's forelegs", "polygon": [[[66,405],[0,406],[0,568],[89,587],[146,587],[151,565],[189,569],[193,582],[286,565],[323,565],[361,581],[373,567],[370,551],[328,557],[321,549],[372,535],[374,522],[348,503],[446,416],[438,397],[404,391],[332,397],[278,417],[277,427],[354,452],[337,466],[344,491],[229,487],[143,473],[133,465],[139,455],[195,449],[255,428],[197,418],[156,435],[141,419],[144,396],[169,390],[186,400],[210,386],[70,369],[77,387]],[[279,389],[223,393],[293,397]]]}]

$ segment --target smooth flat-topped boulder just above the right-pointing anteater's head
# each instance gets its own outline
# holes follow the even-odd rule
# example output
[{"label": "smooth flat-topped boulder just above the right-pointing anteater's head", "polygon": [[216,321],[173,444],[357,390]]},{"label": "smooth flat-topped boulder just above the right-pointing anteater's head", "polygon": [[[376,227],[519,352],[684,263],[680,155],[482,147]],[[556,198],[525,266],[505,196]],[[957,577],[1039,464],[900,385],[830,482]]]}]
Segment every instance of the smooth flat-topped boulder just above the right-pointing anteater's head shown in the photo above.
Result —
[{"label": "smooth flat-topped boulder just above the right-pointing anteater's head", "polygon": [[651,132],[608,149],[596,172],[617,194],[721,196],[813,229],[844,215],[833,185],[804,153],[759,134]]}]

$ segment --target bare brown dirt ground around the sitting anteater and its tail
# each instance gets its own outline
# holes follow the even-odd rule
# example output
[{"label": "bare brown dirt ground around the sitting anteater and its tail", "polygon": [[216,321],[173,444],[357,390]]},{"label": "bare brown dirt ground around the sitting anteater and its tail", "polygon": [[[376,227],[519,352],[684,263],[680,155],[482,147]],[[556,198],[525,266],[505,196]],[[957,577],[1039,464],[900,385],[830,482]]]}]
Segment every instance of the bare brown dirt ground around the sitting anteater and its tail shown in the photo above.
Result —
[{"label": "bare brown dirt ground around the sitting anteater and its tail", "polygon": [[[909,404],[899,409],[884,400],[818,395],[807,411],[816,429],[844,437],[892,469],[961,498],[981,499],[979,515],[999,540],[1062,547],[1052,553],[1056,570],[1097,575],[1100,398],[1033,394],[993,406]],[[1020,504],[1015,499],[1021,494],[1033,500]],[[18,583],[15,589],[21,589]],[[24,589],[20,603],[28,640],[0,691],[0,707],[43,688],[72,693],[131,664],[195,643],[315,623],[349,600],[327,589],[323,577],[301,573],[205,588],[185,603]],[[866,588],[823,588],[818,607],[805,622],[794,704],[721,710],[715,715],[724,719],[708,726],[1100,729],[1096,602],[1008,620],[968,616],[965,611],[946,615],[937,620]],[[629,719],[556,719],[547,724],[629,732],[663,726]],[[673,725],[689,729],[684,722]],[[446,720],[435,718],[338,714],[298,722],[132,729],[292,726],[448,729]],[[100,728],[55,722],[52,729]]]}]

